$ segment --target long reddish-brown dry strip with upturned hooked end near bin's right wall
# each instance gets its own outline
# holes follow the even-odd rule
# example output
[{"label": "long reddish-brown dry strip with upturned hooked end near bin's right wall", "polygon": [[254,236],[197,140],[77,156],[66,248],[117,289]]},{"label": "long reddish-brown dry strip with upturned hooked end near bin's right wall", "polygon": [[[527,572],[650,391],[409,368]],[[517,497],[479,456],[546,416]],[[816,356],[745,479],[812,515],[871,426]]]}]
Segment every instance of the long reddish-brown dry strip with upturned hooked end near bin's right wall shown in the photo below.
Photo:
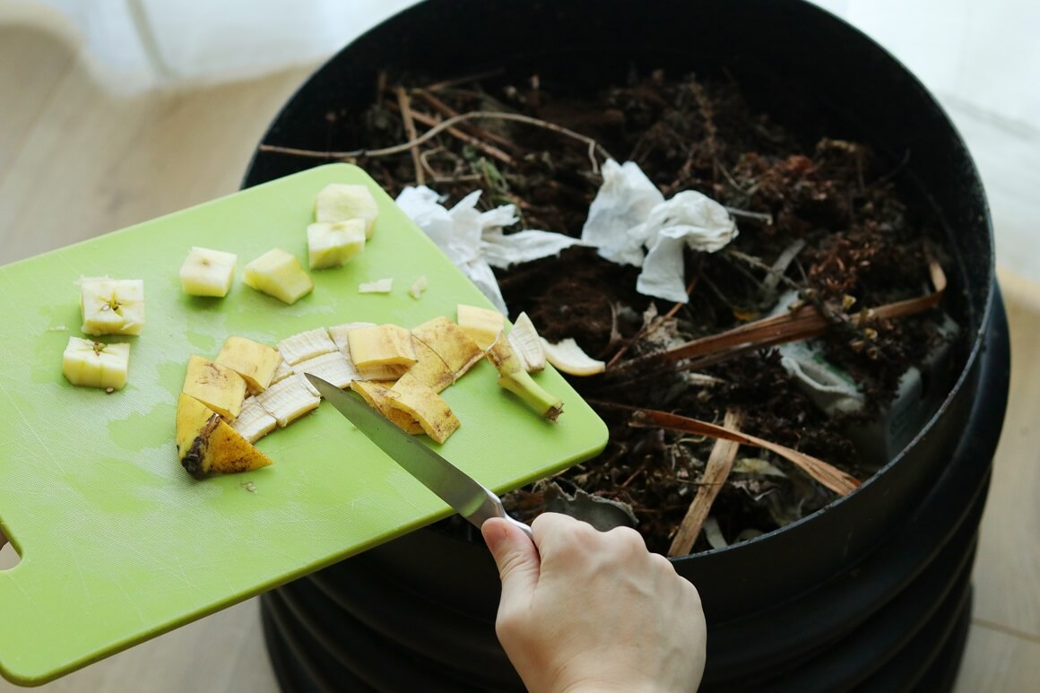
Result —
[{"label": "long reddish-brown dry strip with upturned hooked end near bin's right wall", "polygon": [[[907,299],[906,301],[896,301],[895,303],[885,304],[878,308],[867,308],[860,311],[854,319],[864,323],[869,319],[904,317],[938,305],[946,288],[946,277],[942,272],[942,267],[935,260],[930,262],[930,272],[932,275],[932,284],[935,286],[933,293],[915,299]],[[763,349],[766,346],[776,346],[789,341],[818,336],[826,332],[829,326],[830,322],[826,316],[821,314],[814,306],[806,304],[779,315],[752,320],[726,332],[708,335],[666,351],[653,352],[630,359],[617,366],[614,371],[623,373],[640,365],[674,363],[675,361],[692,359],[705,354],[722,353],[737,348],[753,346]]]}]

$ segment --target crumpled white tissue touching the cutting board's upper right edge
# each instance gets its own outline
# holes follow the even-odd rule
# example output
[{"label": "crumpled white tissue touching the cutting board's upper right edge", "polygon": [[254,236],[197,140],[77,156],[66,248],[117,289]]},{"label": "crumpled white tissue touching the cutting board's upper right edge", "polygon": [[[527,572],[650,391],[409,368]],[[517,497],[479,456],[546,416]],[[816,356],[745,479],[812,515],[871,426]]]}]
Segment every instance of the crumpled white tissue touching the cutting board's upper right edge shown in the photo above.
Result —
[{"label": "crumpled white tissue touching the cutting board's upper right edge", "polygon": [[437,191],[425,185],[408,186],[397,196],[397,206],[476,284],[495,308],[509,314],[491,267],[505,268],[586,243],[548,231],[503,233],[504,227],[518,221],[516,206],[501,205],[482,212],[476,209],[479,199],[480,190],[474,190],[449,211],[440,204]]}]

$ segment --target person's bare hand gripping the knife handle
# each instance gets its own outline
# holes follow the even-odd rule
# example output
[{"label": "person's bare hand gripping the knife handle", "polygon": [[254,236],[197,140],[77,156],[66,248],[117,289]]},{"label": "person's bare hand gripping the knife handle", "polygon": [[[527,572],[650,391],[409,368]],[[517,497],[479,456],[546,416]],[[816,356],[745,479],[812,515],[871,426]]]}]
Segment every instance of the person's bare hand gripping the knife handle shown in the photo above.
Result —
[{"label": "person's bare hand gripping the knife handle", "polygon": [[693,691],[707,628],[697,589],[634,530],[567,515],[482,528],[498,564],[495,631],[530,691]]}]

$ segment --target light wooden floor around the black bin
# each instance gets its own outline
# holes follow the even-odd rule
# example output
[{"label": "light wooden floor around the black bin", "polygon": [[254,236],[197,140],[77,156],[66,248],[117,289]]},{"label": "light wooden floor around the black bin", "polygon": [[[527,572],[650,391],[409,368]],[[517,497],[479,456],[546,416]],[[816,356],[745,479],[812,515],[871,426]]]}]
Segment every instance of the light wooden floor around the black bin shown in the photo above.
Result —
[{"label": "light wooden floor around the black bin", "polygon": [[[0,263],[238,187],[256,142],[308,70],[180,94],[115,98],[75,49],[0,25]],[[1031,225],[1040,203],[1022,199]],[[1025,220],[1020,220],[1025,223]],[[957,691],[1040,685],[1040,286],[1002,275],[1011,403],[982,525],[974,612]],[[2,509],[0,509],[2,510]],[[3,566],[0,558],[0,567]],[[0,613],[0,618],[3,614]],[[0,681],[0,693],[15,687]],[[46,691],[276,691],[246,601],[43,687]]]}]

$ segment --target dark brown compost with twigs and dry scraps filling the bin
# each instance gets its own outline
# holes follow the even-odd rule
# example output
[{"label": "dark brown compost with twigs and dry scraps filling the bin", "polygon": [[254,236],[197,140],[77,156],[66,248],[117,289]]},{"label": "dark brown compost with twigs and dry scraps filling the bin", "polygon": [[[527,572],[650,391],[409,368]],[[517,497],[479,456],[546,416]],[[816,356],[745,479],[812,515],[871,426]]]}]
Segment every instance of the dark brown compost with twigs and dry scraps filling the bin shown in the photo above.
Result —
[{"label": "dark brown compost with twigs and dry scraps filling the bin", "polygon": [[[722,424],[796,448],[865,481],[887,460],[865,459],[850,438],[883,417],[901,376],[943,337],[937,310],[880,319],[867,309],[928,293],[930,258],[943,259],[938,224],[896,183],[901,162],[827,132],[794,132],[756,112],[731,80],[621,76],[595,95],[553,88],[546,75],[510,82],[485,76],[384,95],[363,116],[330,114],[367,149],[394,148],[454,118],[420,145],[353,157],[394,196],[425,184],[450,207],[480,189],[480,207],[514,204],[511,230],[579,236],[607,157],[634,161],[666,197],[699,190],[726,205],[739,235],[716,253],[686,253],[688,301],[635,290],[639,268],[570,248],[496,271],[510,317],[525,311],[549,341],[574,338],[605,373],[571,377],[609,427],[594,460],[506,496],[530,519],[579,490],[638,520],[651,549],[669,553],[698,493],[712,438],[632,426],[632,409]],[[510,113],[524,119],[465,113]],[[664,350],[771,314],[797,291],[829,326],[813,349],[849,374],[865,407],[829,416],[810,401],[774,348],[658,358]],[[566,416],[566,410],[565,414]],[[742,541],[795,521],[835,493],[791,463],[742,446],[710,505],[693,551]],[[450,522],[447,523],[450,529]],[[674,554],[674,548],[672,549]]]}]

